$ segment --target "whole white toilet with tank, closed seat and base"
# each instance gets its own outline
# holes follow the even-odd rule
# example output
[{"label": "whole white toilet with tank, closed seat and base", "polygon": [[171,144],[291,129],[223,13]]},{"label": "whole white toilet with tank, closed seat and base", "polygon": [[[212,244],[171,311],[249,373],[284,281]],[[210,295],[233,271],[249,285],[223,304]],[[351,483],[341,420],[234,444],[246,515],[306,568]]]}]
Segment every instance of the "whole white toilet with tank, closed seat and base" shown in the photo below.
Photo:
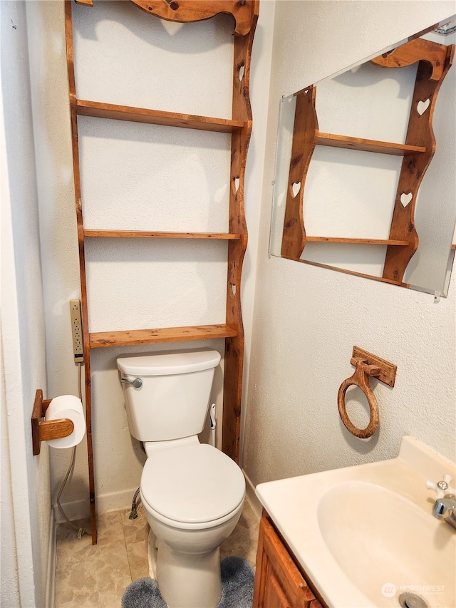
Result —
[{"label": "whole white toilet with tank, closed seat and base", "polygon": [[210,349],[117,359],[130,433],[147,455],[140,495],[157,539],[155,578],[169,608],[217,607],[219,546],[244,503],[239,466],[198,439],[219,361]]}]

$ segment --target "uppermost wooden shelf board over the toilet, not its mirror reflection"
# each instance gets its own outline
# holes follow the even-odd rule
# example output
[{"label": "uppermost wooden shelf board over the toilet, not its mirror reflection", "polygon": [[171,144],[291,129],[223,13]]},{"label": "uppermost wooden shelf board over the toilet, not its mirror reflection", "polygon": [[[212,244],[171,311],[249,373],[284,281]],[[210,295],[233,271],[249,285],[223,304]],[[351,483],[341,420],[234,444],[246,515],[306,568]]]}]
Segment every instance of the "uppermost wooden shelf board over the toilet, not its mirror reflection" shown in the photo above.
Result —
[{"label": "uppermost wooden shelf board over the toilet, not its mirror reflection", "polygon": [[133,108],[130,105],[114,105],[113,103],[99,103],[98,101],[83,99],[76,100],[76,110],[80,116],[129,120],[133,123],[149,123],[151,125],[217,131],[219,133],[233,133],[244,128],[242,120],[148,110],[146,108]]}]

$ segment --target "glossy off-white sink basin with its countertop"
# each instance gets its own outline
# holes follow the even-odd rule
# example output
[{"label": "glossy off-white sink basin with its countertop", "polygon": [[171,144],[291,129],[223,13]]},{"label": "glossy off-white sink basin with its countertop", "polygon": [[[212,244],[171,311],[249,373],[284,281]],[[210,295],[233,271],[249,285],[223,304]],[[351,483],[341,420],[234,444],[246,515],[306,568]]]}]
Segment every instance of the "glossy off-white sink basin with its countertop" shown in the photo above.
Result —
[{"label": "glossy off-white sink basin with its countertop", "polygon": [[[456,607],[456,531],[427,479],[455,465],[412,437],[398,458],[259,484],[257,495],[329,607]],[[454,485],[454,484],[453,484]]]}]

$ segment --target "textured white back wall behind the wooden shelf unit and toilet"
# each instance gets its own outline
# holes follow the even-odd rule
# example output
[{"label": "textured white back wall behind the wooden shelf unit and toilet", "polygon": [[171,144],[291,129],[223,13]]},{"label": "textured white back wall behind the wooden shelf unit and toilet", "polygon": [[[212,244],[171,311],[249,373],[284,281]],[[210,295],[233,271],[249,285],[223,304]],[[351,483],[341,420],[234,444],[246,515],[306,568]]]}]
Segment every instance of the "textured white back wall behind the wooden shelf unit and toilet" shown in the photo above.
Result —
[{"label": "textured white back wall behind the wooden shelf unit and toilet", "polygon": [[[264,165],[272,17],[265,3],[252,61],[254,135],[248,159],[243,308],[249,364],[254,269]],[[31,80],[36,108],[41,252],[46,301],[48,396],[77,394],[69,304],[80,297],[76,213],[62,1],[31,2]],[[170,24],[129,2],[73,4],[79,98],[226,118],[231,113],[233,39],[229,16]],[[262,25],[264,23],[264,25]],[[196,35],[195,35],[196,34]],[[113,41],[115,42],[113,44]],[[108,66],[110,66],[108,68]],[[52,96],[49,95],[52,91]],[[86,226],[103,229],[227,230],[229,136],[81,118],[79,137]],[[88,242],[90,330],[140,329],[224,321],[224,242]],[[144,456],[130,437],[115,357],[120,353],[212,346],[201,341],[93,351],[93,441],[99,510],[128,507]],[[212,401],[222,419],[222,369]],[[220,440],[218,427],[217,439]],[[209,428],[202,440],[209,440]],[[55,496],[68,466],[51,450]],[[68,515],[88,512],[86,445],[63,495]]]}]

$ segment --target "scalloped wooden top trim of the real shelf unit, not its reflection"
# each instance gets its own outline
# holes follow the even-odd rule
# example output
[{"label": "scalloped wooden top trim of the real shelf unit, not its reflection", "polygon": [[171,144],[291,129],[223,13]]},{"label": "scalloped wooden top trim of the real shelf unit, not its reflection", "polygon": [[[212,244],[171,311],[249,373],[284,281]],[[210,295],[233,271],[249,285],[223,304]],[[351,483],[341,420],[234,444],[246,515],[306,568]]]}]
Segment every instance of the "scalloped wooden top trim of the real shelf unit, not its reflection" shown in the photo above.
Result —
[{"label": "scalloped wooden top trim of the real shelf unit, not its reflection", "polygon": [[[93,6],[93,0],[76,0],[78,4]],[[246,36],[252,27],[257,0],[132,0],[143,11],[167,21],[188,23],[204,21],[219,13],[234,17],[236,36]],[[257,12],[258,14],[258,12]]]}]

